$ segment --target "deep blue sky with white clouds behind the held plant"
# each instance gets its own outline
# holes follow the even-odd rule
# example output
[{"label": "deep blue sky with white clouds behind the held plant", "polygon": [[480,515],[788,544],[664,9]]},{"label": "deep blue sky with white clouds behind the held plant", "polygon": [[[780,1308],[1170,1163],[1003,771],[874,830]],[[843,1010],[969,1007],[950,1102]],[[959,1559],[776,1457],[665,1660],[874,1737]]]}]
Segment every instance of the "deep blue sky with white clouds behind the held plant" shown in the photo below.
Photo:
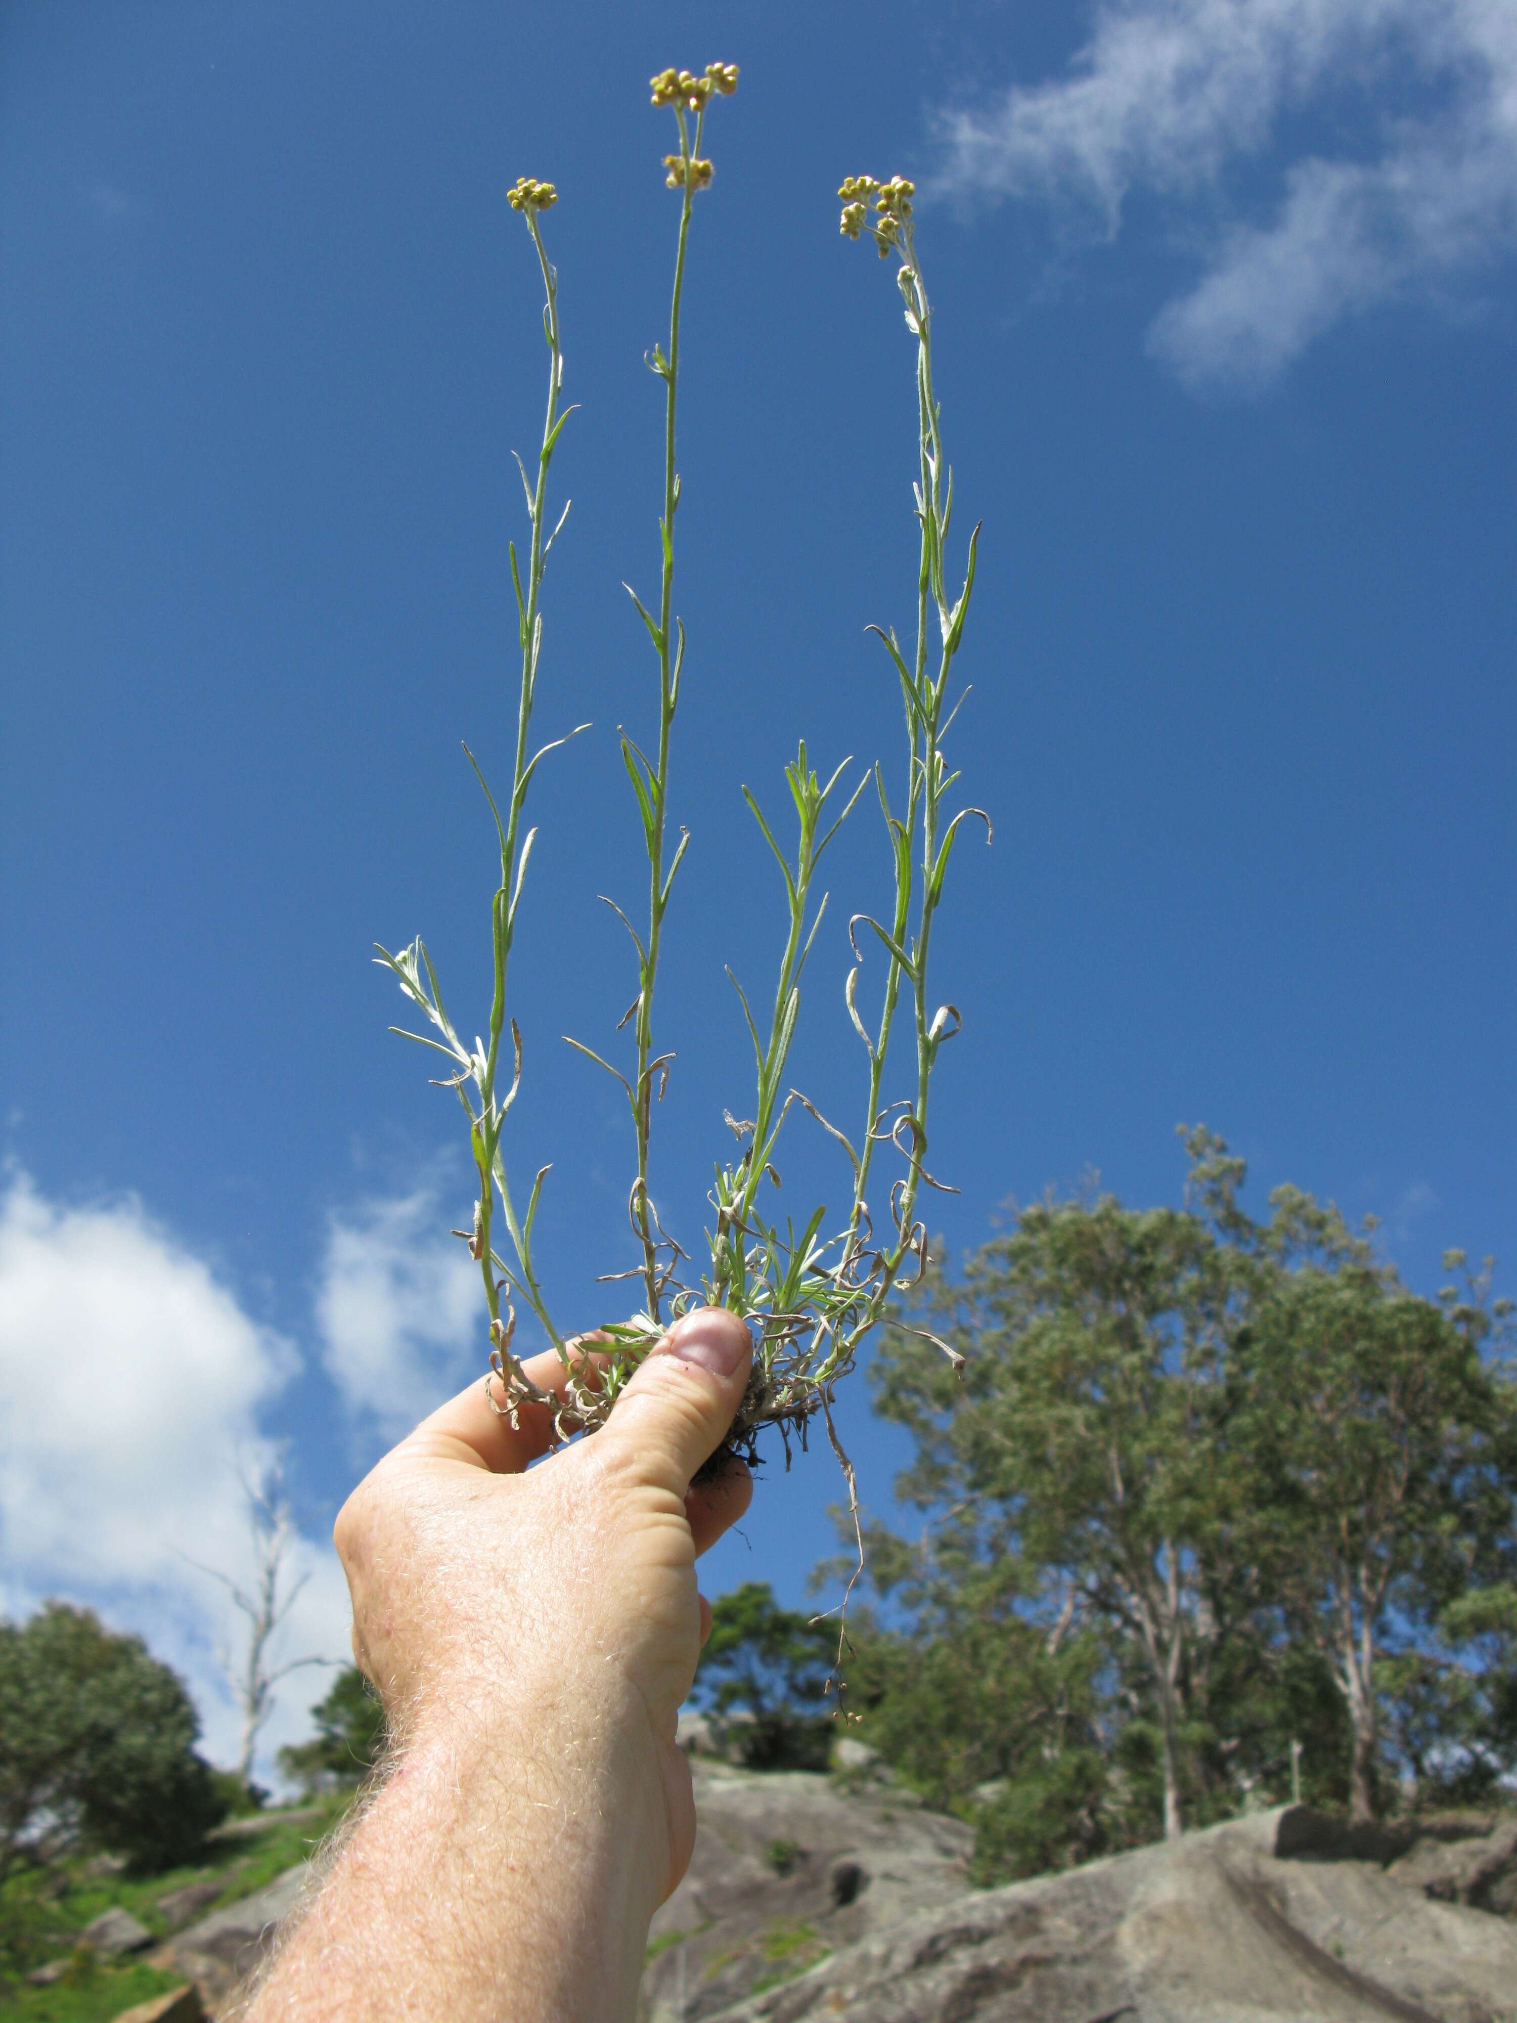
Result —
[{"label": "deep blue sky with white clouds behind the held plant", "polygon": [[[615,749],[651,710],[676,200],[665,63],[742,67],[692,247],[676,815],[678,1064],[657,1194],[702,1228],[779,894],[740,783],[894,757],[864,625],[912,591],[912,352],[843,172],[922,190],[961,518],[983,520],[965,789],[934,951],[953,1252],[1094,1167],[1173,1200],[1177,1121],[1384,1218],[1408,1279],[1513,1268],[1517,28],[1479,0],[963,0],[536,14],[285,0],[0,10],[4,595],[2,1600],[103,1600],[227,1709],[231,1457],[289,1442],[311,1584],[356,1473],[479,1357],[459,1113],[388,1038],[372,941],[485,1016],[542,342],[518,174],[558,184],[566,394],[516,957],[518,1165],[554,1161],[556,1307],[627,1262],[597,892],[641,894]],[[856,1109],[833,864],[797,1080]],[[866,971],[868,985],[868,971]],[[477,1007],[477,1009],[475,1009]],[[730,1141],[728,1141],[730,1143]],[[787,1188],[841,1192],[797,1137]],[[900,1438],[845,1430],[888,1507]],[[773,1473],[708,1584],[799,1600],[837,1479]],[[291,1645],[291,1649],[295,1649]],[[295,1732],[320,1675],[291,1685]],[[275,1730],[271,1730],[275,1738]]]}]

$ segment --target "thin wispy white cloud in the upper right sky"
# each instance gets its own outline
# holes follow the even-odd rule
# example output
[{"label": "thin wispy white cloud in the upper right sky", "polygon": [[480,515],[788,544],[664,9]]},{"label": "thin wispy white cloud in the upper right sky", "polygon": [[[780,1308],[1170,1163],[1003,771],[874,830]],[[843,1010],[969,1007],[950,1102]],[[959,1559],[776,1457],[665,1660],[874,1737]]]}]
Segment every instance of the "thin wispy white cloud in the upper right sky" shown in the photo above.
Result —
[{"label": "thin wispy white cloud in the upper right sky", "polygon": [[[1371,150],[1299,152],[1274,212],[1240,214],[1240,164],[1345,97]],[[1068,77],[949,113],[945,136],[943,188],[1042,198],[1102,237],[1135,190],[1183,206],[1203,271],[1149,348],[1191,384],[1252,388],[1341,318],[1438,299],[1517,249],[1517,6],[1102,0]]]}]

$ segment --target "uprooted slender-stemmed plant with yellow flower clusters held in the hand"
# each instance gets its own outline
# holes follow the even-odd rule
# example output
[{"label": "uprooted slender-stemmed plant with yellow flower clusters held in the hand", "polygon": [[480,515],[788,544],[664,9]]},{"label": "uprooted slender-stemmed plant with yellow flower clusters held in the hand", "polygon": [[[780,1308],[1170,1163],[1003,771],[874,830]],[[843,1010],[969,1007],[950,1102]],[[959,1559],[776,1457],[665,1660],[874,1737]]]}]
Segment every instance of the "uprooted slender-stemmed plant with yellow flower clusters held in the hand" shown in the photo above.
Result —
[{"label": "uprooted slender-stemmed plant with yellow flower clusters held in the hand", "polygon": [[[740,977],[732,975],[740,1014],[752,1040],[752,1115],[726,1125],[736,1149],[716,1163],[710,1190],[706,1264],[696,1272],[690,1252],[667,1232],[655,1208],[649,1165],[651,1123],[674,1060],[655,1038],[657,971],[665,916],[676,876],[690,835],[670,817],[674,728],[680,708],[686,631],[674,611],[676,518],[680,475],[676,469],[676,413],[680,394],[680,307],[686,277],[686,247],[696,198],[712,186],[712,164],[702,154],[706,119],[716,97],[736,91],[736,65],[712,63],[704,75],[661,71],[653,79],[653,105],[674,113],[678,148],[663,158],[667,186],[678,192],[680,218],[674,257],[667,346],[655,344],[647,362],[663,384],[663,512],[659,516],[659,593],[649,609],[629,589],[653,657],[657,714],[645,744],[621,738],[621,759],[637,805],[647,852],[647,904],[635,922],[615,900],[635,949],[637,995],[621,1028],[631,1028],[625,1070],[601,1052],[572,1038],[568,1044],[615,1076],[627,1098],[633,1133],[633,1177],[627,1214],[635,1262],[607,1272],[605,1283],[627,1285],[623,1313],[597,1329],[595,1357],[578,1353],[554,1323],[532,1260],[532,1228],[548,1167],[540,1167],[522,1190],[504,1153],[506,1117],[522,1080],[522,1040],[510,1016],[508,981],[516,914],[522,902],[528,858],[536,829],[524,829],[524,809],[542,759],[566,738],[532,749],[532,712],[542,666],[542,583],[552,544],[568,506],[550,526],[548,471],[554,447],[572,409],[562,407],[564,356],[558,330],[558,283],[542,239],[542,218],[556,202],[550,182],[524,176],[510,190],[538,257],[544,285],[542,328],[548,342],[548,399],[536,469],[522,469],[528,542],[524,556],[510,544],[512,585],[518,611],[520,694],[516,716],[516,761],[510,795],[498,803],[485,787],[500,844],[500,882],[489,904],[494,995],[487,1032],[469,1044],[443,1005],[443,993],[421,939],[390,955],[386,965],[429,1032],[407,1038],[435,1048],[447,1058],[441,1086],[453,1088],[469,1119],[469,1147],[477,1175],[473,1226],[459,1230],[477,1260],[489,1313],[492,1372],[500,1380],[492,1392],[496,1410],[514,1414],[528,1400],[554,1412],[562,1436],[593,1432],[615,1410],[617,1398],[649,1347],[670,1321],[690,1307],[722,1305],[742,1315],[754,1335],[754,1366],[748,1392],[734,1420],[730,1446],[754,1453],[765,1426],[785,1438],[805,1440],[809,1422],[821,1414],[850,1477],[852,1469],[831,1426],[837,1382],[852,1370],[858,1349],[880,1321],[892,1293],[920,1274],[926,1260],[926,1228],[918,1216],[922,1188],[943,1185],[926,1169],[928,1096],[939,1052],[959,1032],[959,1012],[934,1003],[928,991],[932,927],[943,900],[943,884],[955,838],[965,819],[989,819],[981,809],[951,809],[957,781],[945,755],[945,738],[959,708],[949,706],[949,678],[965,629],[975,583],[975,544],[969,538],[965,573],[949,587],[947,540],[953,514],[953,477],[945,463],[939,405],[932,392],[932,316],[916,259],[912,229],[912,184],[900,176],[876,182],[850,176],[841,186],[841,231],[850,239],[870,237],[882,259],[896,259],[896,283],[906,312],[906,328],[916,346],[918,475],[916,520],[920,558],[916,573],[916,631],[902,641],[894,627],[872,627],[884,643],[900,686],[906,730],[906,765],[886,775],[876,763],[858,781],[843,783],[850,761],[825,781],[813,771],[805,744],[785,769],[789,811],[785,823],[771,823],[759,799],[744,787],[765,844],[775,854],[787,900],[787,935],[775,973],[773,999],[754,1007]],[[963,698],[959,698],[963,700]],[[587,728],[587,726],[578,726]],[[572,736],[574,732],[570,732]],[[467,753],[467,746],[465,746]],[[473,755],[469,753],[473,765]],[[817,870],[839,823],[866,787],[874,787],[884,817],[892,868],[892,898],[880,912],[858,912],[850,922],[854,967],[847,971],[843,1001],[864,1050],[864,1098],[858,1127],[850,1135],[821,1117],[815,1105],[787,1082],[787,1060],[801,1007],[801,975],[817,939],[825,892],[817,896]],[[789,848],[781,831],[789,827]],[[882,981],[874,1009],[866,1014],[860,979],[874,961]],[[400,1032],[403,1028],[394,1028]],[[465,1028],[467,1030],[467,1028]],[[906,1094],[888,1092],[888,1074],[902,1054],[892,1042],[910,1042],[914,1074]],[[775,1151],[791,1111],[807,1113],[839,1147],[850,1169],[847,1212],[827,1226],[815,1208],[797,1224],[781,1208]],[[514,1353],[516,1307],[532,1311],[566,1368],[564,1398],[548,1398],[526,1376]],[[934,1341],[936,1337],[926,1337]],[[945,1353],[955,1355],[945,1343]],[[957,1357],[955,1357],[957,1361]]]}]

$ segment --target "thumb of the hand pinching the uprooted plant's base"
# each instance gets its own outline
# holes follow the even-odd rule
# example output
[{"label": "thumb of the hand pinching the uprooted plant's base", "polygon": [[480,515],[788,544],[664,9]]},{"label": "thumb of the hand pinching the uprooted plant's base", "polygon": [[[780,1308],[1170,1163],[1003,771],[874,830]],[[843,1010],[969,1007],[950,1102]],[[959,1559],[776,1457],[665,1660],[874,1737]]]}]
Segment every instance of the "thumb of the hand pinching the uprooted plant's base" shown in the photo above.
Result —
[{"label": "thumb of the hand pinching the uprooted plant's base", "polygon": [[752,1364],[752,1335],[726,1307],[682,1315],[647,1355],[597,1434],[605,1455],[674,1495],[722,1444]]}]

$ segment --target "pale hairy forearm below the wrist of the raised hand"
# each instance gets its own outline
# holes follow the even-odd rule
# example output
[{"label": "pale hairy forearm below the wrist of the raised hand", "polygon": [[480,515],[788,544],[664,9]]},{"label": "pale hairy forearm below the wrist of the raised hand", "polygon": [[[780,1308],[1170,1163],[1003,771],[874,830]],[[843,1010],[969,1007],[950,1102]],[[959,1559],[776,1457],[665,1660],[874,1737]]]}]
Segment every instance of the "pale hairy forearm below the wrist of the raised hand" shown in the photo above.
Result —
[{"label": "pale hairy forearm below the wrist of the raised hand", "polygon": [[[645,1758],[615,1726],[570,1736],[500,1699],[494,1724],[417,1738],[247,2023],[631,2019],[667,1841]],[[629,1833],[639,1815],[645,1831]]]}]

